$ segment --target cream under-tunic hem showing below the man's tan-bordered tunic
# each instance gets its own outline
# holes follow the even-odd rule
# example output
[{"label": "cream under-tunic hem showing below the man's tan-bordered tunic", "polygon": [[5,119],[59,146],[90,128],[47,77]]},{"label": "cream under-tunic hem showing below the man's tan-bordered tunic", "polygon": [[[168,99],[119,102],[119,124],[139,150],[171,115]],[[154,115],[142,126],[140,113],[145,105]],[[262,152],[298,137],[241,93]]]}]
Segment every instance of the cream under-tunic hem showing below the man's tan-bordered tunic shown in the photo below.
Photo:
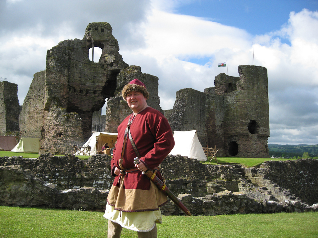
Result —
[{"label": "cream under-tunic hem showing below the man's tan-bordered tunic", "polygon": [[107,203],[104,217],[120,224],[123,228],[141,232],[151,231],[155,223],[162,223],[160,208],[148,212],[121,212]]}]

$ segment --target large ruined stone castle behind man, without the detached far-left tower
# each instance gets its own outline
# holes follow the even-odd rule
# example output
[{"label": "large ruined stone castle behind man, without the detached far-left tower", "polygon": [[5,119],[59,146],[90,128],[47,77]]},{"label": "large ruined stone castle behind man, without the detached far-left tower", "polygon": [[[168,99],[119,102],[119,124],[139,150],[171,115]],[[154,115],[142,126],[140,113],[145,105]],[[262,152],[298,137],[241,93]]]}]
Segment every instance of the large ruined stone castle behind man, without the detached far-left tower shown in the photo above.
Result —
[{"label": "large ruined stone castle behind man, without the detached far-left tower", "polygon": [[[88,56],[94,47],[102,49],[97,63]],[[174,108],[164,114],[173,130],[197,129],[202,146],[216,146],[218,155],[269,157],[267,70],[238,69],[239,77],[219,74],[215,87],[204,92],[179,90]],[[134,78],[147,85],[148,105],[162,111],[158,77],[123,61],[109,23],[90,23],[82,40],[65,40],[47,51],[46,69],[34,74],[22,106],[20,137],[40,138],[44,151],[64,154],[91,136],[92,122],[93,129],[105,124],[102,131],[117,132],[131,113],[121,89]],[[105,100],[106,116],[101,118]]]}]

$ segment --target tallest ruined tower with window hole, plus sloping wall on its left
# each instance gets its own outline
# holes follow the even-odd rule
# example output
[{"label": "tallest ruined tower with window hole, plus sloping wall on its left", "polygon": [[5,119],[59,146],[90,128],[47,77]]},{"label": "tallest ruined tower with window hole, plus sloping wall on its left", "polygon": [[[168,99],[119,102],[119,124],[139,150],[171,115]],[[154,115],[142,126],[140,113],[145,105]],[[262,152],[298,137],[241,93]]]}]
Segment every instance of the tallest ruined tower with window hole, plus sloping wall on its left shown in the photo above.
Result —
[{"label": "tallest ruined tower with window hole, plus sloping wall on its left", "polygon": [[[94,47],[102,49],[97,63],[88,56]],[[142,74],[139,66],[128,67],[118,51],[106,22],[89,23],[82,40],[65,40],[48,50],[46,69],[34,74],[24,100],[19,117],[21,136],[40,138],[45,151],[71,153],[73,144],[81,145],[91,136],[93,112],[103,107],[105,99],[112,101],[136,76],[146,85],[149,78],[158,84],[157,77]],[[156,87],[153,103],[158,108]],[[123,104],[116,110],[125,115],[124,108]],[[112,127],[112,123],[117,122],[108,125]]]}]

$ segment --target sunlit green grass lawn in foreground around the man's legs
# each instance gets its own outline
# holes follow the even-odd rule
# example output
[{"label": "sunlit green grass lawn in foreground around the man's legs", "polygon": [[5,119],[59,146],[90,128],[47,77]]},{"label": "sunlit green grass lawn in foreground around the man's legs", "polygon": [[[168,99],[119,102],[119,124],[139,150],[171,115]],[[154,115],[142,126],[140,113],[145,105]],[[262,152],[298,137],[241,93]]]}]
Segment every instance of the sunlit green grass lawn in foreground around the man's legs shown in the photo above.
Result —
[{"label": "sunlit green grass lawn in foreground around the man's legs", "polygon": [[[159,238],[316,238],[318,213],[164,216],[157,228]],[[100,212],[0,206],[0,237],[107,237],[107,220]]]}]

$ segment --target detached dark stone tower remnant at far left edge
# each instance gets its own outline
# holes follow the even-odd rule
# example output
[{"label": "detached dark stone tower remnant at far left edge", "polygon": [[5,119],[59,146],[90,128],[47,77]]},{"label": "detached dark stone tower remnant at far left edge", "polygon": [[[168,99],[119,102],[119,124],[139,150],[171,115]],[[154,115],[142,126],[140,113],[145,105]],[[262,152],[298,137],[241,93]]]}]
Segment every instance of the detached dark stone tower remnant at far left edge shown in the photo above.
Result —
[{"label": "detached dark stone tower remnant at far left edge", "polygon": [[19,131],[18,85],[7,81],[0,82],[0,135]]}]

